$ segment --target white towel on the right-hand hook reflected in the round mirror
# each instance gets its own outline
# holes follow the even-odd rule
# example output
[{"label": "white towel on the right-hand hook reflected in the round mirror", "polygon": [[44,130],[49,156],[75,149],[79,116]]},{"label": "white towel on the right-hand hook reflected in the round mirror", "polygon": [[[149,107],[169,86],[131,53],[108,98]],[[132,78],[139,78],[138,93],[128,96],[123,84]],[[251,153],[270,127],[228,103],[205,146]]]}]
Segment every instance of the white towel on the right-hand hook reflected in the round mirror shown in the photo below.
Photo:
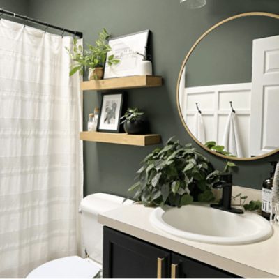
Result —
[{"label": "white towel on the right-hand hook reflected in the round mirror", "polygon": [[239,128],[237,126],[236,115],[234,112],[229,113],[222,145],[225,146],[225,151],[232,153],[234,156],[244,157],[239,140]]}]

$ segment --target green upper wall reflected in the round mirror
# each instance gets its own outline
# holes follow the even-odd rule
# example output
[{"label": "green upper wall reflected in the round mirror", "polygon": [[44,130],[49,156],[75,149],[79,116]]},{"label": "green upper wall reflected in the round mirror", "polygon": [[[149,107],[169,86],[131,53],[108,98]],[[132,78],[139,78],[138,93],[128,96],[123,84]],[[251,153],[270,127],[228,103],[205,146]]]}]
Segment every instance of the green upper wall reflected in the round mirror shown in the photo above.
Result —
[{"label": "green upper wall reflected in the round mirror", "polygon": [[186,86],[251,82],[252,40],[276,36],[278,30],[279,20],[259,16],[241,17],[214,29],[187,61]]}]

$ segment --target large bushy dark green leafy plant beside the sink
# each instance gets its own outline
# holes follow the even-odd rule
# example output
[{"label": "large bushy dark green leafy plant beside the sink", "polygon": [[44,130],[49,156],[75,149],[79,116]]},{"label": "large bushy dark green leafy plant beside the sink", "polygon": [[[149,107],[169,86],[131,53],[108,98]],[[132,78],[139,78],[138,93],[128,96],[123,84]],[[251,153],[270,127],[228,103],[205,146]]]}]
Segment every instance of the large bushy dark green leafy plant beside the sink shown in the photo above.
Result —
[{"label": "large bushy dark green leafy plant beside the sink", "polygon": [[138,181],[128,192],[133,192],[133,199],[145,206],[180,207],[194,199],[213,202],[211,189],[222,173],[191,144],[182,146],[170,139],[162,149],[157,148],[144,158],[137,171]]}]

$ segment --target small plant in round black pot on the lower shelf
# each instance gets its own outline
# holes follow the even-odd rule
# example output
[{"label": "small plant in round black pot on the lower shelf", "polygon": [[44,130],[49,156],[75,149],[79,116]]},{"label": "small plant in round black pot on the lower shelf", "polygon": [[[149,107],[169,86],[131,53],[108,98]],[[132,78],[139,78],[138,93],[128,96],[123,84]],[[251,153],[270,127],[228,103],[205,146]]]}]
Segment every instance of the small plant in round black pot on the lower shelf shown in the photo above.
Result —
[{"label": "small plant in round black pot on the lower shelf", "polygon": [[140,135],[148,133],[149,123],[144,118],[144,112],[139,108],[128,108],[121,119],[124,119],[121,124],[124,123],[124,130],[127,134]]}]

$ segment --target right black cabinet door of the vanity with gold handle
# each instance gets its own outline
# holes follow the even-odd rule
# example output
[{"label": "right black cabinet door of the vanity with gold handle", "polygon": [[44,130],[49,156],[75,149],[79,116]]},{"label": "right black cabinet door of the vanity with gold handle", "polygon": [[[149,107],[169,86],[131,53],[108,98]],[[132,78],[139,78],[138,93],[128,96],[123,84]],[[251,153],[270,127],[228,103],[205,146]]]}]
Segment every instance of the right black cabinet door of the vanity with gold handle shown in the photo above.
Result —
[{"label": "right black cabinet door of the vanity with gold handle", "polygon": [[172,276],[175,278],[239,278],[232,273],[174,252],[172,252]]}]

